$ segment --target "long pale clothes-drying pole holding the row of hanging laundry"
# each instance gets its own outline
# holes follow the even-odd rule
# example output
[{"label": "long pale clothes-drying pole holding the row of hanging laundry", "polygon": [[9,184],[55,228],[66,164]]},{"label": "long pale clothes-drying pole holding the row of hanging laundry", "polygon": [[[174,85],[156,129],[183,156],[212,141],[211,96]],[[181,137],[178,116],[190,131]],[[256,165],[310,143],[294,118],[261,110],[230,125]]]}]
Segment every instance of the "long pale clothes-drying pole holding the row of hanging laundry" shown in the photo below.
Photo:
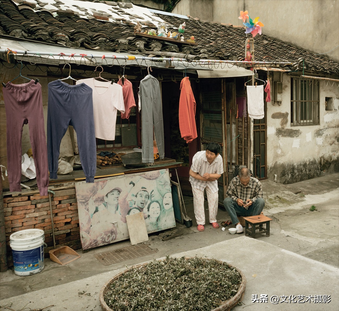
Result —
[{"label": "long pale clothes-drying pole holding the row of hanging laundry", "polygon": [[140,60],[140,61],[178,61],[178,62],[189,62],[189,63],[203,63],[203,64],[216,64],[216,63],[227,63],[227,64],[235,64],[235,65],[292,65],[291,62],[260,62],[260,61],[231,61],[231,60],[186,60],[185,58],[174,58],[174,57],[146,57],[146,56],[136,56],[136,55],[94,55],[94,54],[76,54],[76,53],[49,53],[49,52],[36,52],[36,51],[22,51],[22,50],[11,50],[7,49],[0,49],[0,53],[5,54],[22,54],[23,55],[32,55],[32,56],[41,56],[41,55],[48,55],[48,56],[58,56],[59,58],[63,57],[80,57],[80,58],[101,58],[101,59],[120,59],[120,60]]}]

